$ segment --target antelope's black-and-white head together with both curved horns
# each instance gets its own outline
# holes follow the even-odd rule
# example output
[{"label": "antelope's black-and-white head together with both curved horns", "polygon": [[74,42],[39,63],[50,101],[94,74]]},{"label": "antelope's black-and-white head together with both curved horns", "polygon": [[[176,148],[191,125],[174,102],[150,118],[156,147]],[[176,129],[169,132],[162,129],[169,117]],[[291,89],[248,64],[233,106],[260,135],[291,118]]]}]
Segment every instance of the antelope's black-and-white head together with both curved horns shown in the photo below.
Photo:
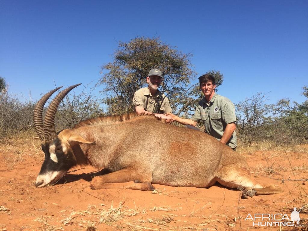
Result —
[{"label": "antelope's black-and-white head together with both curved horns", "polygon": [[57,182],[71,167],[76,165],[76,159],[71,149],[67,148],[55,132],[55,114],[59,103],[69,91],[80,84],[68,87],[61,91],[50,103],[43,123],[43,108],[47,99],[59,88],[44,95],[34,108],[34,128],[42,141],[42,150],[45,160],[42,164],[39,176],[36,179],[36,187],[44,187],[47,184]]}]

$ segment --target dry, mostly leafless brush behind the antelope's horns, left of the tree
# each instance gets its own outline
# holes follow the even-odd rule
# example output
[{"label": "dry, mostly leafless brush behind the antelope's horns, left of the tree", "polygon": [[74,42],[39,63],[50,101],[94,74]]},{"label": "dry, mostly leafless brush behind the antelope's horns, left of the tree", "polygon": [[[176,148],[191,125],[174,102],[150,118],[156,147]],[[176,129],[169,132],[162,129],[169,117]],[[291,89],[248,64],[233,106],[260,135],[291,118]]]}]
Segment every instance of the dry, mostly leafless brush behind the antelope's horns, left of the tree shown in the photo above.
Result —
[{"label": "dry, mostly leafless brush behind the antelope's horns, left of the tree", "polygon": [[[81,120],[103,114],[99,104],[100,95],[95,96],[93,93],[97,83],[94,86],[90,84],[80,87],[79,94],[71,92],[63,99],[55,116],[57,130],[72,128]],[[15,138],[24,132],[34,131],[35,104],[36,102],[32,102],[31,98],[22,102],[17,96],[0,93],[0,138]],[[48,102],[43,109],[43,116],[47,107]]]}]

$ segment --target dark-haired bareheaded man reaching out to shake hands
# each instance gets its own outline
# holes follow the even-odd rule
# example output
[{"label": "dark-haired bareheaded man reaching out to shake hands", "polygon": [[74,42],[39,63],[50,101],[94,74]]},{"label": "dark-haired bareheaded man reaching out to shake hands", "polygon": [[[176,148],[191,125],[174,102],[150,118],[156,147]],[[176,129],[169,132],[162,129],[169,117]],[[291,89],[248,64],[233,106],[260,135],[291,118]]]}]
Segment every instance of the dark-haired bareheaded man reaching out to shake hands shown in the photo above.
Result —
[{"label": "dark-haired bareheaded man reaching out to shake hands", "polygon": [[215,79],[211,74],[199,77],[200,90],[204,94],[196,106],[191,119],[183,119],[171,113],[172,120],[180,124],[195,127],[202,120],[205,132],[228,145],[233,150],[237,147],[236,116],[234,104],[228,99],[215,93]]}]

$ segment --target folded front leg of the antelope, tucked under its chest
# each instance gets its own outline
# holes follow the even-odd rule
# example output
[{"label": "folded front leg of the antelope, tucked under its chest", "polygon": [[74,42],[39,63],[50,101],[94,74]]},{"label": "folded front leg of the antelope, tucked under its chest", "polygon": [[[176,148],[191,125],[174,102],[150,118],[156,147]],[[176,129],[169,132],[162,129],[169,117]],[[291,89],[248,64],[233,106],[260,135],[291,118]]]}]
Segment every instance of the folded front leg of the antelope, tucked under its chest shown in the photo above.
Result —
[{"label": "folded front leg of the antelope, tucked under its chest", "polygon": [[[132,182],[132,181],[135,182]],[[91,189],[107,188],[129,188],[134,190],[150,191],[155,188],[150,179],[145,180],[133,168],[123,168],[116,172],[111,172],[102,176],[95,176],[91,181]]]}]

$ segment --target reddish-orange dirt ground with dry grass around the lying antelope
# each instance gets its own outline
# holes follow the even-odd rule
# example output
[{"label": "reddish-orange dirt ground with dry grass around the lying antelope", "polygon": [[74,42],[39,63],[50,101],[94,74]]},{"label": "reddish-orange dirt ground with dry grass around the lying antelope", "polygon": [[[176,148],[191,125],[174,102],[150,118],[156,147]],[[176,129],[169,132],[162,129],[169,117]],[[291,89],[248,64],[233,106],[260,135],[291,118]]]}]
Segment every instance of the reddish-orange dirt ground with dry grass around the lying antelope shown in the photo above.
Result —
[{"label": "reddish-orange dirt ground with dry grass around the lying antelope", "polygon": [[[96,169],[90,167],[72,169],[57,184],[35,188],[44,158],[39,142],[7,140],[0,145],[0,230],[307,230],[308,145],[238,152],[248,161],[252,176],[278,184],[285,192],[243,200],[241,191],[219,184],[154,185],[153,192],[91,190]],[[299,227],[253,226],[255,214],[290,217],[294,207],[302,208]]]}]

